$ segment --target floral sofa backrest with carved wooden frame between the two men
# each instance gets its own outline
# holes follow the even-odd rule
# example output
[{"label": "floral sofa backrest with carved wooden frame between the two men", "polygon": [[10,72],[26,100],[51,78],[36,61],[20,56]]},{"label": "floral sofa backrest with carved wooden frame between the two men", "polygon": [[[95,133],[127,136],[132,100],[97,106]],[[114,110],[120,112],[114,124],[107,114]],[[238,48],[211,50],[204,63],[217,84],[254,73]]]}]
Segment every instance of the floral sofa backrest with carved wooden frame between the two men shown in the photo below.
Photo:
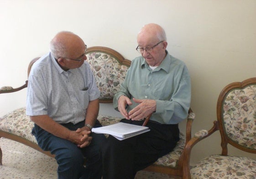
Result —
[{"label": "floral sofa backrest with carved wooden frame between the two men", "polygon": [[86,56],[99,87],[99,102],[113,102],[114,94],[120,90],[131,61],[125,60],[117,51],[103,46],[89,47]]}]

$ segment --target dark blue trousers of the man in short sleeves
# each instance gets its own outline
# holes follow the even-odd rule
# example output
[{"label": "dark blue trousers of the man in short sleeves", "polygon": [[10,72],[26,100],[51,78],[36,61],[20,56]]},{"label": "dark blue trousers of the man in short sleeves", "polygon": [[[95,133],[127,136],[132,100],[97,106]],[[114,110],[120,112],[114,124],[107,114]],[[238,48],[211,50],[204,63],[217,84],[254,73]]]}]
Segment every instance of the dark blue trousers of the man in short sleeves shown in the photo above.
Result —
[{"label": "dark blue trousers of the man in short sleeves", "polygon": [[[75,131],[84,127],[84,121],[73,124],[62,124],[64,127]],[[101,127],[97,120],[94,128]],[[32,130],[38,145],[45,151],[55,155],[58,164],[58,179],[101,179],[102,155],[101,144],[106,140],[103,134],[91,133],[93,137],[89,146],[78,148],[76,144],[56,137],[35,124]],[[84,157],[86,166],[84,167]]]}]

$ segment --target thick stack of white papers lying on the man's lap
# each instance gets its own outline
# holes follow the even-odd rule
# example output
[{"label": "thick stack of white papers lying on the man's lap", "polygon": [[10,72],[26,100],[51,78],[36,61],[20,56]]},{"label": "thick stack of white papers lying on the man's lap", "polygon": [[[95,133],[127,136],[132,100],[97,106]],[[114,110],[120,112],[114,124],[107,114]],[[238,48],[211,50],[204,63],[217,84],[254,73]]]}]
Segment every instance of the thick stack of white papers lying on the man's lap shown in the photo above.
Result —
[{"label": "thick stack of white papers lying on the man's lap", "polygon": [[109,126],[100,127],[100,128],[92,128],[93,133],[110,134],[113,137],[117,138],[118,140],[131,138],[141,133],[146,133],[148,131],[150,131],[148,127],[122,123],[122,122],[112,124]]}]

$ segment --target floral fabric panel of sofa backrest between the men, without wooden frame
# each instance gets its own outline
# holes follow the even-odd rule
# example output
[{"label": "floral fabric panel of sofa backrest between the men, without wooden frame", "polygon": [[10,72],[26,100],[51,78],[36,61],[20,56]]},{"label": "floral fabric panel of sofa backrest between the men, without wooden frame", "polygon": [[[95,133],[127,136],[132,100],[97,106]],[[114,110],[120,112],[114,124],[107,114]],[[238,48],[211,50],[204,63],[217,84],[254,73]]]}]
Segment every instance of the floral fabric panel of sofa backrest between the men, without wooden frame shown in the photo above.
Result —
[{"label": "floral fabric panel of sofa backrest between the men, without wooden frame", "polygon": [[103,52],[87,54],[87,61],[94,73],[101,99],[112,99],[120,91],[128,66],[121,65],[114,57]]}]

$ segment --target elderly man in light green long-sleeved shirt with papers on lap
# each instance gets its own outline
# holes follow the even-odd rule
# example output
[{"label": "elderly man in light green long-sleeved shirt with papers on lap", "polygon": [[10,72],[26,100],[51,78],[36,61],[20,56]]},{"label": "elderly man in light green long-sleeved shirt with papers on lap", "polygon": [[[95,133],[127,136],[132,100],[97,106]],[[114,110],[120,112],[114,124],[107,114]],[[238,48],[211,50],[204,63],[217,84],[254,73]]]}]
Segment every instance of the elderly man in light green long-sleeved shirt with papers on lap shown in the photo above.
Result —
[{"label": "elderly man in light green long-sleeved shirt with papers on lap", "polygon": [[183,61],[171,56],[166,34],[157,24],[142,27],[136,50],[114,107],[124,116],[121,122],[142,125],[150,131],[119,141],[110,136],[103,147],[103,178],[134,179],[136,172],[169,153],[179,140],[178,123],[187,118],[191,83]]}]

